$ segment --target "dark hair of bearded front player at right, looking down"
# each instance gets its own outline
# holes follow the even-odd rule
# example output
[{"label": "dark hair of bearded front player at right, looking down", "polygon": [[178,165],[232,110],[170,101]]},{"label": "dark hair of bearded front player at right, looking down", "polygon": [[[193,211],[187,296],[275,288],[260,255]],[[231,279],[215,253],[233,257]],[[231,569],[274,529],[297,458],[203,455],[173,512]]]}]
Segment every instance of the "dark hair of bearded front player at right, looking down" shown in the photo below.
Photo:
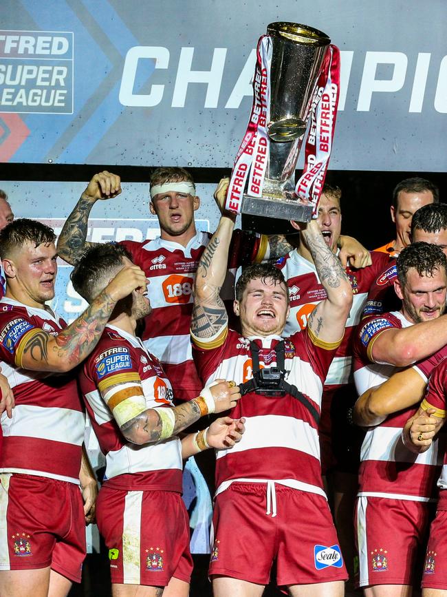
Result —
[{"label": "dark hair of bearded front player at right, looking down", "polygon": [[428,242],[413,242],[402,249],[397,258],[397,278],[401,286],[406,284],[408,270],[414,267],[419,275],[432,277],[435,270],[447,271],[447,258],[442,249]]}]

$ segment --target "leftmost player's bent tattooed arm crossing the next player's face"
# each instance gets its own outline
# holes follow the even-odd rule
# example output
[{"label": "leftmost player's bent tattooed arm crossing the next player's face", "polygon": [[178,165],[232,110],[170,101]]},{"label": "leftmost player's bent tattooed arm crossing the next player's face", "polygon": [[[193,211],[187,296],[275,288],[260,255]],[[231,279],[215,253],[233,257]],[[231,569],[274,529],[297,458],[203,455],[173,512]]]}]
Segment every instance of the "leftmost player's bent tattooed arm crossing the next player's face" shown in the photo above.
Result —
[{"label": "leftmost player's bent tattooed arm crossing the next player's face", "polygon": [[124,267],[89,308],[58,335],[34,327],[26,331],[16,348],[17,366],[59,373],[73,369],[98,343],[116,303],[133,290],[142,288],[146,289],[144,271],[138,266]]}]

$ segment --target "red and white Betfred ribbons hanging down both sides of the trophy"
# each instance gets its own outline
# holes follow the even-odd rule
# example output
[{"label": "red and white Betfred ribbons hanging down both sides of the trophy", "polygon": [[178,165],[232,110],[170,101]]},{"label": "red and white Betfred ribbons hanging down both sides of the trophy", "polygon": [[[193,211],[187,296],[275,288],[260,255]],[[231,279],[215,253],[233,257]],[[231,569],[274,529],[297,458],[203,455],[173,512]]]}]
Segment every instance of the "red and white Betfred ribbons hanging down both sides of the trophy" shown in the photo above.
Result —
[{"label": "red and white Betfred ribbons hanging down both sides of the trophy", "polygon": [[[235,158],[225,209],[241,213],[246,188],[253,197],[262,196],[265,169],[268,163],[270,139],[267,125],[270,120],[270,64],[272,41],[268,35],[259,39],[257,63],[253,80],[253,105],[247,132]],[[314,217],[323,189],[340,92],[340,52],[329,45],[311,100],[311,124],[305,145],[305,167],[296,183],[295,192],[314,205]]]}]

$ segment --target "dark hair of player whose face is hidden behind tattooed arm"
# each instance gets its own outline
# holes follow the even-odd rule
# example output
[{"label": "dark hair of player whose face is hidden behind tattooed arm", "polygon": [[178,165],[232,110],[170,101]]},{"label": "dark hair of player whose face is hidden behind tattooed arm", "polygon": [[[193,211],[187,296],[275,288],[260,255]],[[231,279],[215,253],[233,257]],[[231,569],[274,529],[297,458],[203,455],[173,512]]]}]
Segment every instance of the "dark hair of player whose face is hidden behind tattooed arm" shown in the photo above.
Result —
[{"label": "dark hair of player whose face is hidden behind tattooed arm", "polygon": [[132,260],[132,256],[121,244],[101,243],[95,244],[85,251],[78,264],[70,274],[73,288],[85,300],[91,303],[102,290],[110,277],[122,268],[122,258]]}]

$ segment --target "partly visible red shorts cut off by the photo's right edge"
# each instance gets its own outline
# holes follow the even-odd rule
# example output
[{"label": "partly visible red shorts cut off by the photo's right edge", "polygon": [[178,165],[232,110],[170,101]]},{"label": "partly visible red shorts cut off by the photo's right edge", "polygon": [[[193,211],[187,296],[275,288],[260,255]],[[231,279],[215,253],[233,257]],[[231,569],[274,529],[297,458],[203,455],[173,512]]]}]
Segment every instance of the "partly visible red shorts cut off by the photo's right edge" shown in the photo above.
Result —
[{"label": "partly visible red shorts cut off by the photo's right edge", "polygon": [[[441,492],[442,493],[442,492]],[[446,547],[447,547],[447,512],[438,510],[431,523],[430,538],[422,568],[423,589],[447,589]]]}]

